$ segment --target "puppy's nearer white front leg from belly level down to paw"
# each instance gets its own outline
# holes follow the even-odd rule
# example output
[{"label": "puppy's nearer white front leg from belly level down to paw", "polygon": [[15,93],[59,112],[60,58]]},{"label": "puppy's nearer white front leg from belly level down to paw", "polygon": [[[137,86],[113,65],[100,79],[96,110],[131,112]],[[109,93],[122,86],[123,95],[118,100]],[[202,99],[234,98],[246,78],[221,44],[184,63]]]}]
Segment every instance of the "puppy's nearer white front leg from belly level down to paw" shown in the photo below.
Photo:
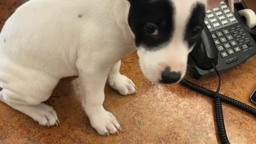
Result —
[{"label": "puppy's nearer white front leg from belly level down to paw", "polygon": [[[79,69],[79,68],[78,68]],[[88,69],[88,67],[87,67]],[[103,107],[104,86],[109,69],[93,68],[79,69],[79,81],[82,89],[82,105],[89,117],[91,126],[100,135],[116,134],[120,125],[112,113]]]}]

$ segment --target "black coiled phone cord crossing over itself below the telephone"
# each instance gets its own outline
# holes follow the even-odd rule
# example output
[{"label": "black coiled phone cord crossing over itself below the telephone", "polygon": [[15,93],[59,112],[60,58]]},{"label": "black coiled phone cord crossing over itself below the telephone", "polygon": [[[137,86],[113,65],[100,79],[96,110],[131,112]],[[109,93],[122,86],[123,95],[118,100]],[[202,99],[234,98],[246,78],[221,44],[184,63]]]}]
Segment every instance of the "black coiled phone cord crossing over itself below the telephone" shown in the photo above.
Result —
[{"label": "black coiled phone cord crossing over itself below the telephone", "polygon": [[198,86],[197,84],[194,84],[190,81],[187,81],[183,79],[180,83],[183,86],[186,86],[190,88],[191,90],[194,90],[196,92],[200,92],[201,94],[204,94],[206,96],[209,96],[211,98],[215,98],[215,113],[217,118],[217,126],[219,131],[219,137],[221,139],[221,143],[229,143],[228,137],[226,135],[226,129],[224,126],[224,118],[223,118],[223,109],[221,105],[221,101],[224,101],[230,105],[233,105],[235,107],[238,107],[239,109],[242,109],[246,111],[247,113],[250,113],[251,115],[256,117],[256,109],[253,107],[250,107],[249,105],[246,105],[245,103],[242,103],[240,101],[237,101],[236,99],[229,98],[228,96],[224,96],[222,94],[219,94],[219,90],[221,88],[221,75],[219,74],[219,71],[217,67],[213,64],[213,68],[215,69],[216,73],[219,76],[219,84],[216,92],[213,92],[211,90],[208,90],[206,88],[203,88],[202,86]]}]

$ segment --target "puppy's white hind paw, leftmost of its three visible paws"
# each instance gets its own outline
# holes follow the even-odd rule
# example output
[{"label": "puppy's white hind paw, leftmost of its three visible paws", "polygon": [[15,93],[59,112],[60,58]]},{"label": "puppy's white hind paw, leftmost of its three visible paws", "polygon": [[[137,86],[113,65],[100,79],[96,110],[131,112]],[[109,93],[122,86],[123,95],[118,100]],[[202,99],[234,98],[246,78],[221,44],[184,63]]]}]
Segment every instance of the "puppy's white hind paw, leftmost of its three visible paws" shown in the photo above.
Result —
[{"label": "puppy's white hind paw, leftmost of its three visible paws", "polygon": [[30,109],[31,117],[33,120],[37,121],[41,126],[54,126],[58,125],[60,121],[58,120],[56,111],[53,107],[40,103],[39,105],[34,105]]}]

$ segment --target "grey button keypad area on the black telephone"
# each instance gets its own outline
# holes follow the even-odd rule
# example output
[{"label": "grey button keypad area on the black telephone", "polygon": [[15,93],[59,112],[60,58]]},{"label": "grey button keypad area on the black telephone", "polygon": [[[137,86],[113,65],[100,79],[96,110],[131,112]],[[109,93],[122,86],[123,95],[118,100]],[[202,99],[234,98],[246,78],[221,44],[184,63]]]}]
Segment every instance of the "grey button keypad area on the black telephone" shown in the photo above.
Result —
[{"label": "grey button keypad area on the black telephone", "polygon": [[236,17],[230,12],[226,3],[215,9],[207,10],[205,24],[211,31],[215,45],[226,64],[236,62],[236,53],[253,48],[244,28],[238,24]]}]

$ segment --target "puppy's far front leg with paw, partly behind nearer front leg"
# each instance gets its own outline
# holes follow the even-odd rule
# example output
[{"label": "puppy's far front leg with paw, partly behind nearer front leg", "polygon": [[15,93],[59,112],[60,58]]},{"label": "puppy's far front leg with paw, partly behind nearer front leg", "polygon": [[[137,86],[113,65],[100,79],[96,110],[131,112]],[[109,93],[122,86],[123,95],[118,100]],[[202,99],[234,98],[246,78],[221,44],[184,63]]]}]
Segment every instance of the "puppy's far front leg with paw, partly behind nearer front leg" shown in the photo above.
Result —
[{"label": "puppy's far front leg with paw, partly behind nearer front leg", "polygon": [[131,79],[126,77],[125,75],[121,75],[119,72],[121,66],[121,61],[117,62],[111,69],[108,74],[108,83],[112,88],[117,90],[122,95],[134,94],[135,84]]}]

